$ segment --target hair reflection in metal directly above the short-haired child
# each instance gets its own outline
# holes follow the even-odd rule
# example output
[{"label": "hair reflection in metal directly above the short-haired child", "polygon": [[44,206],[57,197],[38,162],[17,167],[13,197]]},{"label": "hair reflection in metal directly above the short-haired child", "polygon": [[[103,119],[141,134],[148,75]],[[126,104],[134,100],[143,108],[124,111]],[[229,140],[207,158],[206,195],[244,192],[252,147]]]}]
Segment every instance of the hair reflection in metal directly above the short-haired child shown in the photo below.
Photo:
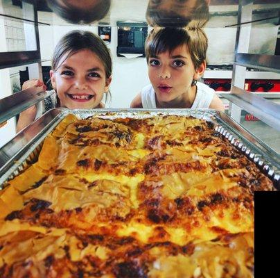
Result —
[{"label": "hair reflection in metal directly above the short-haired child", "polygon": [[152,27],[186,27],[192,23],[192,26],[202,28],[209,20],[209,5],[205,0],[198,0],[195,8],[189,10],[188,15],[180,15],[172,9],[160,9],[160,5],[161,1],[153,6],[149,2],[146,19]]}]

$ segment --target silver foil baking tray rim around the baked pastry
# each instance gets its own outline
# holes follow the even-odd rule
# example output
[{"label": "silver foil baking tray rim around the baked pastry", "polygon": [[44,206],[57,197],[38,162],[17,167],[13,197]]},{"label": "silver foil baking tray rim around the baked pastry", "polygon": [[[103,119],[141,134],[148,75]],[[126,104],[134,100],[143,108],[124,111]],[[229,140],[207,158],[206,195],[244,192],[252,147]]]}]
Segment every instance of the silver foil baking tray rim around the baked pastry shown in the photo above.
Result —
[{"label": "silver foil baking tray rim around the baked pastry", "polygon": [[8,180],[17,176],[37,160],[44,138],[70,113],[80,119],[90,116],[110,119],[116,117],[143,118],[162,114],[193,116],[207,120],[212,122],[214,129],[227,138],[240,152],[254,161],[261,171],[273,181],[275,188],[280,190],[279,154],[220,111],[211,109],[69,110],[67,108],[55,108],[48,111],[0,149],[0,189],[5,186]]}]

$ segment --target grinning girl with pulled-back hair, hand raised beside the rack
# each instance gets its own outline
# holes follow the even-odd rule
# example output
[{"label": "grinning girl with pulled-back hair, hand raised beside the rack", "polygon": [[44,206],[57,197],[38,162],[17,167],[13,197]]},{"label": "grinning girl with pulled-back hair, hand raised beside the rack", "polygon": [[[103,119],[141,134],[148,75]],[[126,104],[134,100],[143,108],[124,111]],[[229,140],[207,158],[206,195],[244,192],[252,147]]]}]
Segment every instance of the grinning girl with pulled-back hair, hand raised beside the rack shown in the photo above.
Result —
[{"label": "grinning girl with pulled-back hair, hand raised beside the rack", "polygon": [[[55,94],[46,99],[47,110],[54,107],[102,108],[103,97],[110,95],[112,58],[103,40],[87,31],[72,31],[64,35],[53,53],[51,85]],[[40,80],[26,81],[23,90],[33,86],[46,89]],[[20,113],[17,131],[24,129],[42,110],[36,106]]]}]

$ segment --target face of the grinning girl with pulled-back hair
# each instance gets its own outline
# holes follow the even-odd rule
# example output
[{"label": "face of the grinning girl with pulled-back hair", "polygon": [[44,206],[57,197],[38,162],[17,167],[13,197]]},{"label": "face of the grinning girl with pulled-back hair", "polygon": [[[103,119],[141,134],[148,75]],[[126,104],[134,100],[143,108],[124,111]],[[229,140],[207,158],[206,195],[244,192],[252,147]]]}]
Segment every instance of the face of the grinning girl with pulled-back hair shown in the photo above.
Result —
[{"label": "face of the grinning girl with pulled-back hair", "polygon": [[70,109],[98,107],[111,83],[111,77],[106,78],[100,58],[89,49],[67,56],[64,54],[58,69],[50,72],[60,106]]}]

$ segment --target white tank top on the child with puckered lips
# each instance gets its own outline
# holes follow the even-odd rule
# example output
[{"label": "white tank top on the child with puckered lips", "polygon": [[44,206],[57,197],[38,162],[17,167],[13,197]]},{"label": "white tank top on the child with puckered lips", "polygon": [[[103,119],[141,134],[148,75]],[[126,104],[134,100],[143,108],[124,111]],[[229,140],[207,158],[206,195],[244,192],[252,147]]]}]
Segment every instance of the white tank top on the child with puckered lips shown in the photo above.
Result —
[{"label": "white tank top on the child with puckered lips", "polygon": [[[215,95],[215,91],[204,83],[196,83],[197,90],[195,100],[193,101],[192,109],[195,108],[209,108],[211,101]],[[147,85],[141,90],[141,101],[143,108],[152,109],[157,108],[155,101],[155,90],[152,84]]]}]

